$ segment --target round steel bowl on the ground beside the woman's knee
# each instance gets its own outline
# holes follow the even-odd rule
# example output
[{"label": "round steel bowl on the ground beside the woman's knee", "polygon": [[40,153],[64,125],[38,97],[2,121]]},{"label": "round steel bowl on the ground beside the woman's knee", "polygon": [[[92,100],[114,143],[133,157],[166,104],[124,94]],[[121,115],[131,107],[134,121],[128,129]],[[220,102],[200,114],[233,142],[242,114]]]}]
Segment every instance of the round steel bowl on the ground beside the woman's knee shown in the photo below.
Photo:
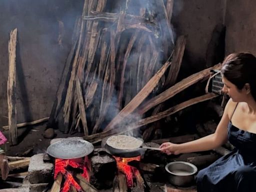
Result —
[{"label": "round steel bowl on the ground beside the woman's knee", "polygon": [[168,180],[171,184],[177,186],[188,186],[194,181],[197,167],[185,161],[169,162],[165,165],[168,174]]}]

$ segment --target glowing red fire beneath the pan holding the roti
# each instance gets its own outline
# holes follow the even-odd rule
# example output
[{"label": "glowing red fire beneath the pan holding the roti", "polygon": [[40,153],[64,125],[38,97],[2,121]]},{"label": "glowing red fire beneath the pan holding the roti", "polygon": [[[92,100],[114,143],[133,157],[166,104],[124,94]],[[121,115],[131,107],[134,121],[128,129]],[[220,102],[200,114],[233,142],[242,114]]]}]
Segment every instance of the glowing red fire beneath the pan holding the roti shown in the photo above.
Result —
[{"label": "glowing red fire beneath the pan holding the roti", "polygon": [[133,178],[138,171],[135,167],[128,165],[127,163],[132,160],[140,161],[140,156],[135,157],[117,157],[114,156],[118,171],[122,172],[126,176],[127,186],[131,188],[133,186]]}]

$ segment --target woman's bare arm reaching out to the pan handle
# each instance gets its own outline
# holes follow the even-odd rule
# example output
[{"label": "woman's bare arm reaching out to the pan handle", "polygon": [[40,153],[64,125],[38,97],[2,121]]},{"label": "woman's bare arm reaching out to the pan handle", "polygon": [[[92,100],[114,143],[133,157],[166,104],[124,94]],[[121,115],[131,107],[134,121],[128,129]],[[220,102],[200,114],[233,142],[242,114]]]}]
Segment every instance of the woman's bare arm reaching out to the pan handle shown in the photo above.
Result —
[{"label": "woman's bare arm reaching out to the pan handle", "polygon": [[230,114],[230,109],[234,108],[233,105],[234,102],[229,99],[214,133],[182,144],[174,144],[171,142],[162,143],[160,145],[161,151],[167,154],[179,154],[186,152],[210,150],[221,146],[227,141],[227,126],[230,116],[228,114]]}]

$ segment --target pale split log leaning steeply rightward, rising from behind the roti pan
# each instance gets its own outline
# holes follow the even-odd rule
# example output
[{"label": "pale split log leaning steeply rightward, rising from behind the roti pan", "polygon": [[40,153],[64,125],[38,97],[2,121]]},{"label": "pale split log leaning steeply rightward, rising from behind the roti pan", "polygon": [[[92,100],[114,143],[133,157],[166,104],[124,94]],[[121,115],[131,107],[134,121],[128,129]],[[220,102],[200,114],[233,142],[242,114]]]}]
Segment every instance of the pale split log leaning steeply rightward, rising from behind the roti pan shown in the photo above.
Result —
[{"label": "pale split log leaning steeply rightward, rising from behind the roti pan", "polygon": [[169,62],[165,62],[165,64],[145,84],[145,86],[136,94],[136,96],[134,96],[132,100],[110,121],[110,123],[105,127],[105,131],[113,129],[114,126],[118,124],[125,116],[135,110],[135,108],[149,95],[149,93],[157,85],[169,64]]}]

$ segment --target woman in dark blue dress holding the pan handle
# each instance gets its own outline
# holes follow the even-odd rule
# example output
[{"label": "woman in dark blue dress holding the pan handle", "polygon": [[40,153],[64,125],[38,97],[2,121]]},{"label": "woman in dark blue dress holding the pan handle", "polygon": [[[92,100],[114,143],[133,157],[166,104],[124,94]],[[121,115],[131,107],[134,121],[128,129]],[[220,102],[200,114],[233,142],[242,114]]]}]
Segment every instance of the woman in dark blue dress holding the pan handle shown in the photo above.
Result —
[{"label": "woman in dark blue dress holding the pan handle", "polygon": [[235,146],[196,176],[197,191],[256,191],[256,57],[232,53],[222,62],[222,91],[230,96],[214,133],[175,144],[164,142],[161,151],[179,154],[210,150],[227,139]]}]

